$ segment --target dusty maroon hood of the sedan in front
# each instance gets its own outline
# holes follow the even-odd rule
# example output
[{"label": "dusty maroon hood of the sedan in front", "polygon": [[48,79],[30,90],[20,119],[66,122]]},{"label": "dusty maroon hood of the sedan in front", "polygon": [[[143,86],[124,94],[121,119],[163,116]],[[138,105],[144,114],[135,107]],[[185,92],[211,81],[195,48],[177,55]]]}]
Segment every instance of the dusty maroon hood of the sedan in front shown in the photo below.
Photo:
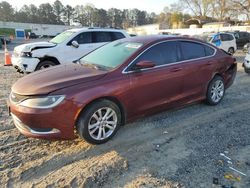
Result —
[{"label": "dusty maroon hood of the sedan in front", "polygon": [[18,95],[46,95],[50,92],[101,79],[107,71],[80,64],[57,65],[19,79],[12,92]]}]

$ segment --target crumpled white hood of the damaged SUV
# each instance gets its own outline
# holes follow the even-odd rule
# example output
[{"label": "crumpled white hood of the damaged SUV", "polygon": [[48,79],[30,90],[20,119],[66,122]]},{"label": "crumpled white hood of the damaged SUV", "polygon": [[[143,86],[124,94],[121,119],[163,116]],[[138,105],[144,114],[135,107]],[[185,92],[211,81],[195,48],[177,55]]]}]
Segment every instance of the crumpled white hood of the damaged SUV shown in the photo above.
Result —
[{"label": "crumpled white hood of the damaged SUV", "polygon": [[35,50],[35,49],[52,48],[55,46],[56,44],[51,43],[51,42],[34,42],[34,43],[19,45],[15,47],[14,51],[15,52],[31,52],[32,50]]}]

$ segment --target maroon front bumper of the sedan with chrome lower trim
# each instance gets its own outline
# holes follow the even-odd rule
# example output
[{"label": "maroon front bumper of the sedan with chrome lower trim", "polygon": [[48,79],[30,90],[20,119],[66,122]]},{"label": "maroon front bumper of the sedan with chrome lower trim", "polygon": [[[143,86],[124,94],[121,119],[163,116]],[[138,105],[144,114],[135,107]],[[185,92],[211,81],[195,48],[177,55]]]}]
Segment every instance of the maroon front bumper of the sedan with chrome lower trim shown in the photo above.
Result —
[{"label": "maroon front bumper of the sedan with chrome lower trim", "polygon": [[[27,137],[41,139],[74,139],[79,107],[65,100],[52,109],[33,109],[7,101],[17,129]],[[70,109],[70,110],[69,110]]]}]

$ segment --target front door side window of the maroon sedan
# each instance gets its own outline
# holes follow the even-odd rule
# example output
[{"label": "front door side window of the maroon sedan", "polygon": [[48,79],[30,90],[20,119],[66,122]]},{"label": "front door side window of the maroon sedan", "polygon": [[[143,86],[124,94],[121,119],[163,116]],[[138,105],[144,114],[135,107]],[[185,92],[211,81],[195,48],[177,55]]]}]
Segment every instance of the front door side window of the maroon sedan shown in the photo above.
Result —
[{"label": "front door side window of the maroon sedan", "polygon": [[179,60],[177,42],[169,41],[157,44],[144,52],[135,63],[152,61],[156,66],[175,63]]}]

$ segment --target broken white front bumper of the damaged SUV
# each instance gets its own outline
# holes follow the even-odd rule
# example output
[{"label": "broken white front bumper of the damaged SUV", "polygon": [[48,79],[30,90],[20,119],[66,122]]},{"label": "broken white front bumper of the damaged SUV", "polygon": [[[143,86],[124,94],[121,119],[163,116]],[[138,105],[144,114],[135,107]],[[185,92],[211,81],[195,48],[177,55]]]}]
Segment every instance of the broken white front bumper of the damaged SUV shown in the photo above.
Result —
[{"label": "broken white front bumper of the damaged SUV", "polygon": [[29,73],[35,71],[40,60],[33,57],[17,57],[13,55],[11,61],[19,72]]}]

